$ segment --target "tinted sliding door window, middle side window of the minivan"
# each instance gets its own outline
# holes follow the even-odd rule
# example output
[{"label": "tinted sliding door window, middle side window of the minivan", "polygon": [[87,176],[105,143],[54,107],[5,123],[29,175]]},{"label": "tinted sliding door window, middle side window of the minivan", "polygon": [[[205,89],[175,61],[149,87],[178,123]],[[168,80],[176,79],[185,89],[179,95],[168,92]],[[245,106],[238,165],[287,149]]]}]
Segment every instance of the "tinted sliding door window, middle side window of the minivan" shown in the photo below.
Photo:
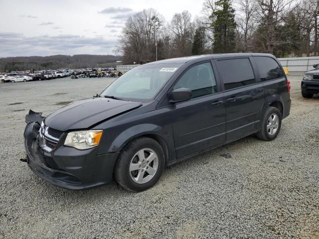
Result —
[{"label": "tinted sliding door window, middle side window of the minivan", "polygon": [[256,83],[248,58],[220,60],[217,61],[217,67],[224,81],[225,90]]}]

